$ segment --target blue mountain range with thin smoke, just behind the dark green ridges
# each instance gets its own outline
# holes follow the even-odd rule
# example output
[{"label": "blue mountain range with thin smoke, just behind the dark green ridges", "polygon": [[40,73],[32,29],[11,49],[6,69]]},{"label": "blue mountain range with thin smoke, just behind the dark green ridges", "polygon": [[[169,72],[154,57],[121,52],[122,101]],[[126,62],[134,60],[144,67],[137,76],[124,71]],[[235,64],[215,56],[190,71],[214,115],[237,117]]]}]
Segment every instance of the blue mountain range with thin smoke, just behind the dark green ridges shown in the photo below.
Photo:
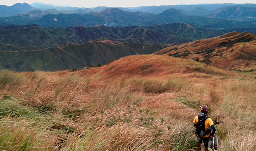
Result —
[{"label": "blue mountain range with thin smoke, just behind the dark green ridges", "polygon": [[[29,12],[30,13],[30,12]],[[55,11],[55,13],[58,13]],[[63,12],[62,12],[63,13]],[[65,11],[65,13],[68,13]],[[41,13],[38,13],[41,14]],[[43,12],[42,12],[43,14]],[[118,8],[107,8],[101,12],[91,12],[90,14],[51,14],[39,18],[24,17],[24,14],[0,18],[6,24],[38,24],[43,27],[72,27],[72,26],[94,26],[107,25],[113,27],[123,26],[150,26],[152,24],[166,24],[174,22],[184,22],[203,28],[235,28],[242,27],[250,22],[240,22],[238,20],[227,20],[221,18],[206,18],[201,16],[187,16],[186,12],[176,9],[168,9],[158,15],[143,12],[127,12]]]}]

